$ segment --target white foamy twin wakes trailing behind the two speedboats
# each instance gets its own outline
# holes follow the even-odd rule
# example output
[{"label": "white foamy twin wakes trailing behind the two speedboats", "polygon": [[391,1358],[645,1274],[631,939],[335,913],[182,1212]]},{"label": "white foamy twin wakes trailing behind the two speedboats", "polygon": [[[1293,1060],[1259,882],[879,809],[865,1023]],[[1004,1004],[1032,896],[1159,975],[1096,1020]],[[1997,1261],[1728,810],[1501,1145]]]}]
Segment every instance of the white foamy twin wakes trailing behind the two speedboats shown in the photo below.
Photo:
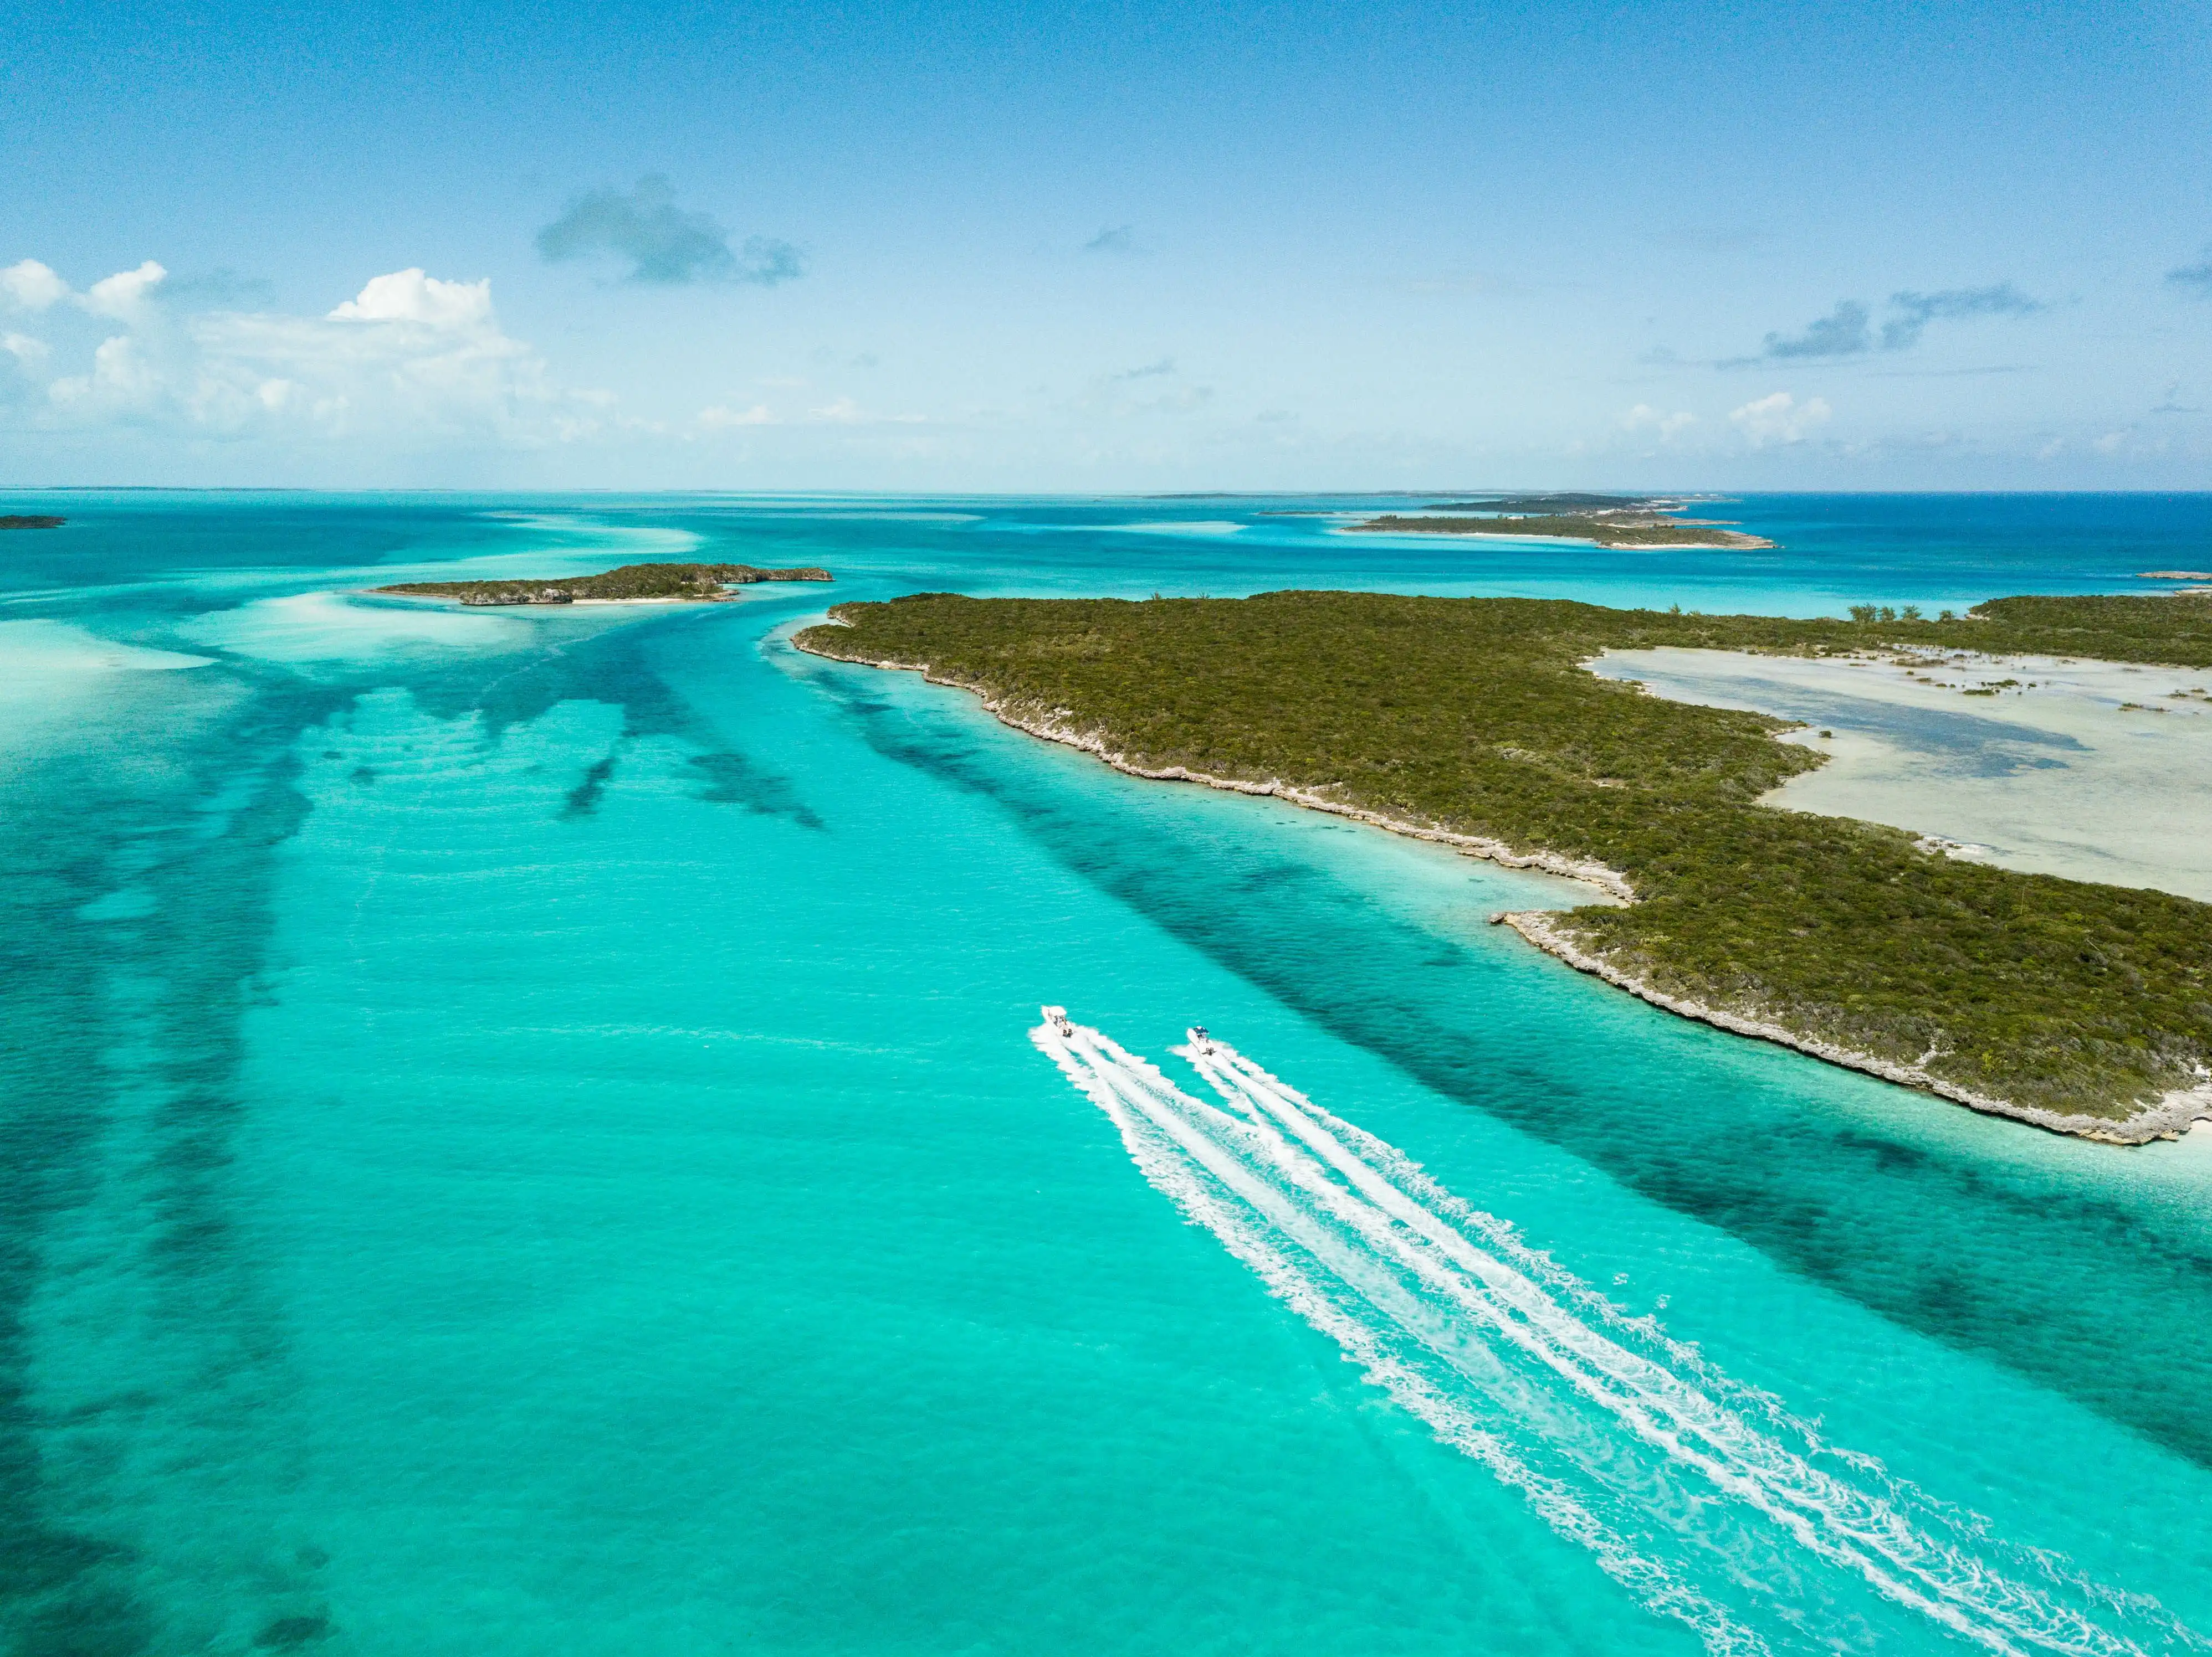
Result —
[{"label": "white foamy twin wakes trailing behind the two speedboats", "polygon": [[1878,1648],[1900,1617],[2008,1657],[2212,1650],[1823,1442],[1206,1031],[1172,1051],[1219,1104],[1057,1007],[1031,1040],[1188,1219],[1708,1650]]}]

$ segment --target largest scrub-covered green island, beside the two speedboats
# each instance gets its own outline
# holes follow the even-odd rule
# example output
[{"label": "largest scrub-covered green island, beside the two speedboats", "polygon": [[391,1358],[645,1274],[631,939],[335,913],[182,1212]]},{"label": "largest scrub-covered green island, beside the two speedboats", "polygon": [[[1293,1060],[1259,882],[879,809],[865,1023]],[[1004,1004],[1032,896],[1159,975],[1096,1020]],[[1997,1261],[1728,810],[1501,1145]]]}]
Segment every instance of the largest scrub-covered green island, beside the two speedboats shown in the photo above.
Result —
[{"label": "largest scrub-covered green island, beside the two speedboats", "polygon": [[1610,885],[1630,900],[1502,920],[1692,1018],[2095,1139],[2212,1113],[2212,905],[1763,807],[1825,763],[1774,741],[1790,721],[1582,670],[1646,646],[2212,666],[2212,604],[2006,597],[1962,617],[1798,622],[1380,593],[920,593],[830,615],[796,644],[920,668],[1124,770]]}]

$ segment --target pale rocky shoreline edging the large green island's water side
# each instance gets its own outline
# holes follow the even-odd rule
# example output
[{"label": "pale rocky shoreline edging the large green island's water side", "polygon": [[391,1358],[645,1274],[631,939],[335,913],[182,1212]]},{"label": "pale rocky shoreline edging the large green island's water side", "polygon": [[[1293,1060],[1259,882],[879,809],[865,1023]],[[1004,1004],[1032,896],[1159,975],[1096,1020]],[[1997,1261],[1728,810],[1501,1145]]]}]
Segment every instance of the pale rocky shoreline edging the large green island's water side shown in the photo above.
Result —
[{"label": "pale rocky shoreline edging the large green island's water side", "polygon": [[[816,626],[847,626],[836,617]],[[1358,823],[1369,823],[1374,827],[1387,830],[1391,834],[1405,834],[1416,841],[1433,841],[1438,845],[1449,845],[1467,856],[1478,856],[1489,863],[1500,863],[1509,869],[1540,869],[1544,874],[1557,874],[1568,880],[1582,880],[1597,887],[1606,896],[1619,903],[1635,903],[1635,887],[1628,883],[1619,869],[1608,869],[1601,863],[1588,863],[1582,858],[1559,856],[1557,852],[1520,852],[1504,841],[1491,841],[1475,834],[1455,834],[1451,830],[1440,830],[1422,823],[1407,823],[1402,819],[1385,816],[1380,812],[1369,812],[1365,807],[1347,805],[1343,801],[1332,801],[1325,794],[1314,794],[1312,790],[1292,788],[1281,781],[1248,781],[1239,777],[1212,777],[1208,772],[1194,772],[1186,765],[1150,768],[1139,765],[1110,750],[1097,732],[1075,730],[1073,726],[1060,723],[1051,710],[1037,708],[1015,708],[995,699],[984,686],[956,679],[951,675],[936,673],[927,661],[894,661],[880,657],[867,657],[858,653],[838,653],[823,648],[816,635],[814,644],[792,639],[799,650],[807,655],[818,655],[830,661],[852,661],[867,668],[891,668],[900,673],[918,673],[929,684],[951,686],[956,690],[969,690],[975,695],[984,712],[1004,726],[1013,726],[1031,737],[1042,737],[1044,741],[1055,741],[1066,748],[1079,748],[1086,754],[1102,759],[1117,772],[1128,777],[1144,777],[1148,781],[1172,781],[1172,783],[1201,783],[1206,788],[1219,788],[1232,794],[1272,794],[1276,799],[1290,801],[1292,805],[1303,805],[1314,812],[1329,812],[1332,816],[1349,816]],[[1885,1082],[1896,1082],[1900,1086],[1918,1088],[1922,1093],[1933,1093],[1938,1097],[1951,1100],[1953,1104],[1964,1104],[1984,1115],[2000,1115],[2013,1122],[2024,1122],[2035,1128],[2046,1128],[2051,1133],[2066,1133],[2079,1139],[2095,1139],[2099,1144],[2115,1146],[2139,1146],[2152,1139],[2179,1139],[2188,1133],[2190,1124],[2199,1119],[2212,1119],[2212,1082],[2203,1082],[2194,1088],[2179,1088],[2166,1093],[2157,1102],[2146,1104],[2130,1117],[2110,1119],[2093,1117],[2081,1113],[2044,1111],[2028,1104],[2013,1104],[2011,1100],[2000,1100],[1989,1093],[1975,1093],[1973,1088],[1962,1088],[1955,1082],[1944,1082],[1942,1077],[1929,1075],[1920,1066],[1896,1064],[1874,1053],[1858,1053],[1834,1042],[1823,1042],[1816,1035],[1801,1035],[1781,1024],[1770,1024],[1745,1013],[1732,1013],[1728,1009],[1708,1007],[1697,1000],[1681,996],[1670,996],[1655,984],[1639,980],[1635,973],[1621,971],[1601,956],[1584,951],[1577,947],[1557,925],[1559,916],[1555,911],[1531,909],[1515,914],[1498,914],[1493,923],[1513,927],[1522,938],[1542,949],[1557,960],[1564,960],[1577,971],[1586,971],[1595,978],[1604,978],[1615,989],[1626,989],[1652,1007],[1661,1007],[1681,1018],[1692,1018],[1701,1024],[1712,1024],[1714,1029],[1730,1031],[1732,1035],[1750,1035],[1754,1040],[1774,1042],[1778,1046],[1790,1046],[1809,1057],[1838,1064],[1849,1071],[1863,1071],[1865,1075],[1876,1075]]]}]

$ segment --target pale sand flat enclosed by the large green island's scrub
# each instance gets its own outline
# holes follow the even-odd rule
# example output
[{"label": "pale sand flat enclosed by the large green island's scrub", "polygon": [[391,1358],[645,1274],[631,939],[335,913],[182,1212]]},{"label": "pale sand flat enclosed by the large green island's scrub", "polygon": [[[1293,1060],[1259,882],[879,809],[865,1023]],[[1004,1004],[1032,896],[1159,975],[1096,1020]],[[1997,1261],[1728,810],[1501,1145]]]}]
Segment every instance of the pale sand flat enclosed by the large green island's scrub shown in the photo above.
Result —
[{"label": "pale sand flat enclosed by the large green island's scrub", "polygon": [[[1783,741],[1829,763],[1770,805],[1889,823],[2008,869],[2212,903],[2212,699],[2170,695],[2212,690],[2208,670],[1973,657],[1913,679],[1889,659],[1679,648],[1608,650],[1590,670],[1672,701],[1809,721]],[[2035,688],[1955,688],[1995,679]]]}]

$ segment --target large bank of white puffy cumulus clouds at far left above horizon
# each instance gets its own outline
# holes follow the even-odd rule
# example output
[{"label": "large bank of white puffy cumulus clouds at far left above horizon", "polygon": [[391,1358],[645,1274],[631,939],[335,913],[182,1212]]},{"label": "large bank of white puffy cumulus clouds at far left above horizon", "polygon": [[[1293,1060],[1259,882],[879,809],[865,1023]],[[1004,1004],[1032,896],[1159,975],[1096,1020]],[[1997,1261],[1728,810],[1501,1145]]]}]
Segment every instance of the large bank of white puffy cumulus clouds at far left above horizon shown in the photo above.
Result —
[{"label": "large bank of white puffy cumulus clouds at far left above horizon", "polygon": [[[11,398],[11,420],[215,438],[495,436],[529,445],[560,436],[555,405],[575,400],[551,385],[538,352],[500,330],[489,281],[396,270],[323,316],[294,316],[184,310],[164,296],[164,279],[148,259],[77,294],[77,308],[115,332],[58,378],[44,381],[49,343],[7,334],[9,356],[33,376],[33,394]],[[33,277],[31,285],[51,283]]]}]

